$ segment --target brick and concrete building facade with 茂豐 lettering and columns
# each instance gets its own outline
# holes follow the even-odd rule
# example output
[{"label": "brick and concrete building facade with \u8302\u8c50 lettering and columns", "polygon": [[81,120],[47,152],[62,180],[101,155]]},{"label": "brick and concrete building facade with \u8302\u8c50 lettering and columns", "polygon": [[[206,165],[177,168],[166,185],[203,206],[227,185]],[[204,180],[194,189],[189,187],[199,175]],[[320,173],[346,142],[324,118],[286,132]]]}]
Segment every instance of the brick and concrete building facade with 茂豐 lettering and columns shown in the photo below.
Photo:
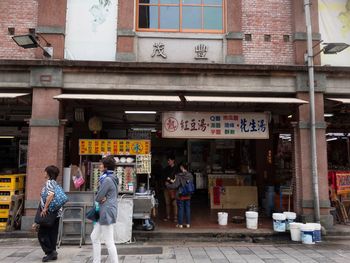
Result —
[{"label": "brick and concrete building facade with \u8302\u8c50 lettering and columns", "polygon": [[[319,2],[324,1],[310,2],[317,52],[322,39],[319,5],[324,4]],[[343,2],[346,4],[339,4]],[[125,109],[269,112],[276,133],[290,133],[293,138],[294,210],[312,220],[303,1],[3,0],[0,10],[5,14],[0,17],[0,91],[27,94],[0,98],[1,135],[28,140],[22,228],[29,227],[35,214],[44,168],[56,164],[63,169],[79,163],[78,139],[93,136],[87,118],[103,108],[103,114],[110,113],[103,119],[109,129],[108,137],[118,136],[112,130],[127,125],[113,120],[113,115],[119,116]],[[14,35],[28,33],[36,34],[53,56],[46,58],[40,48],[23,49],[12,41]],[[320,65],[320,56],[315,56],[314,61]],[[347,132],[348,125],[343,115],[326,122],[324,113],[346,109],[346,105],[332,104],[328,98],[350,95],[350,67],[315,66],[315,72],[321,221],[330,226],[333,219],[328,196],[326,133],[330,128]],[[65,94],[66,98],[59,97]],[[69,96],[74,94],[78,97]],[[83,99],[79,97],[82,94],[164,95],[182,99],[179,103],[115,102]],[[194,103],[183,99],[191,95],[213,100]],[[215,103],[218,97],[250,99]],[[259,102],[257,98],[299,102]],[[84,110],[85,119],[77,120],[77,109]],[[274,172],[273,162],[265,159],[274,147],[272,138],[271,135],[267,142],[256,142],[254,162],[259,168],[259,195],[263,195],[264,182]]]}]

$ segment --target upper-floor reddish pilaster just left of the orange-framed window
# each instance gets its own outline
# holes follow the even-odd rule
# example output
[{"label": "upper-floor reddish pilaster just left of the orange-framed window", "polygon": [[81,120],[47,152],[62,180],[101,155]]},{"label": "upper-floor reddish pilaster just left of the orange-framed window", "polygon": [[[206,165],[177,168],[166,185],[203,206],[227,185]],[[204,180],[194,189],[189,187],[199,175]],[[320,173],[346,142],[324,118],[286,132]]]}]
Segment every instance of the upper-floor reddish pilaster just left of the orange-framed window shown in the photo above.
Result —
[{"label": "upper-floor reddish pilaster just left of the orange-framed window", "polygon": [[118,1],[117,61],[136,61],[135,14],[135,1]]}]

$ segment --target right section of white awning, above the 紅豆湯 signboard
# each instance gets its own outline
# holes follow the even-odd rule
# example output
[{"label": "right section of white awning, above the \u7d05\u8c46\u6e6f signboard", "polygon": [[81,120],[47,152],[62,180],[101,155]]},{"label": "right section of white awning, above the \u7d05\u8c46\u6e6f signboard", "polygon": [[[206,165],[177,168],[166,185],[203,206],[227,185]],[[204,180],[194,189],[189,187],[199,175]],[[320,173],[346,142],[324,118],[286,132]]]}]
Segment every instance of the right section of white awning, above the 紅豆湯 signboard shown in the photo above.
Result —
[{"label": "right section of white awning, above the \u7d05\u8c46\u6e6f signboard", "polygon": [[291,103],[306,104],[306,100],[297,98],[280,97],[204,97],[204,96],[185,96],[189,102],[227,102],[227,103]]}]

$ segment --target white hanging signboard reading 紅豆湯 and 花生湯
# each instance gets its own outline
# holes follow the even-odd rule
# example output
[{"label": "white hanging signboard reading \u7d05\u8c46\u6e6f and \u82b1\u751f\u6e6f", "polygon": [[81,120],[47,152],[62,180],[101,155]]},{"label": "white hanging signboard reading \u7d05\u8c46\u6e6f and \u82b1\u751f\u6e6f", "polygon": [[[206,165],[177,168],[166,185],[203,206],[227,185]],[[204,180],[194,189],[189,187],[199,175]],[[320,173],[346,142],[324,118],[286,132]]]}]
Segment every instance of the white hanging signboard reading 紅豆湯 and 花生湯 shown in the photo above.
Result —
[{"label": "white hanging signboard reading \u7d05\u8c46\u6e6f and \u82b1\u751f\u6e6f", "polygon": [[267,113],[165,112],[164,138],[268,139]]}]

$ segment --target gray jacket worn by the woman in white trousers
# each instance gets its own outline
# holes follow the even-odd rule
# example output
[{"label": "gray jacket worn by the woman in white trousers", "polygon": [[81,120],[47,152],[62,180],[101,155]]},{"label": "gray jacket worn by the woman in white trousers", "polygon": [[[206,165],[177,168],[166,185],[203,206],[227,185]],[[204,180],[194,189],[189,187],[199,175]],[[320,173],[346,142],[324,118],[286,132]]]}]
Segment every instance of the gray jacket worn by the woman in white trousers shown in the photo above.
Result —
[{"label": "gray jacket worn by the woman in white trousers", "polygon": [[[95,197],[95,201],[100,206],[100,225],[111,225],[117,221],[117,197],[118,181],[115,176],[107,176],[100,185]],[[101,200],[106,197],[106,201],[101,204]]]}]

